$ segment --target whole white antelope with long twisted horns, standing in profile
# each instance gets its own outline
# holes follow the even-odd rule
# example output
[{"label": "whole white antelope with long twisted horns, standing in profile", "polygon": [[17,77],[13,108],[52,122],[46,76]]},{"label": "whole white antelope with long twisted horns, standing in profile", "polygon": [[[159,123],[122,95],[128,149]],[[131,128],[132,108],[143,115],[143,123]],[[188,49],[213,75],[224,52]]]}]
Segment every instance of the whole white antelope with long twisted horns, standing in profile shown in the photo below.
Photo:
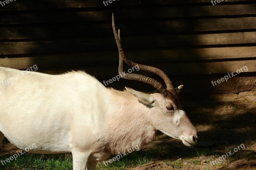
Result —
[{"label": "whole white antelope with long twisted horns, standing in profile", "polygon": [[[129,66],[156,73],[166,88],[153,78],[128,74],[124,78],[148,83],[160,93],[146,94],[125,87],[106,88],[83,71],[49,75],[0,68],[0,81],[24,72],[22,77],[0,85],[0,144],[6,137],[31,153],[72,153],[73,170],[95,170],[110,154],[140,148],[159,130],[186,146],[197,142],[196,128],[184,112],[171,80],[160,69],[133,63],[124,54],[120,30],[112,27],[119,51],[119,73],[123,61]],[[1,145],[0,145],[1,146]]]}]

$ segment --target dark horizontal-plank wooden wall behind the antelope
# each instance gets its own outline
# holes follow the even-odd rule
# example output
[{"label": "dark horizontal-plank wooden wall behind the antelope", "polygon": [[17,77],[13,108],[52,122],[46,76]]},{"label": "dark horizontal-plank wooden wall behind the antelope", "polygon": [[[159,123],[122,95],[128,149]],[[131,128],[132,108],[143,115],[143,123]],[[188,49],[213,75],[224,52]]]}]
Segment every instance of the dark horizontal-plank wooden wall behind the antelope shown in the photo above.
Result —
[{"label": "dark horizontal-plank wooden wall behind the antelope", "polygon": [[[128,57],[166,72],[184,92],[256,90],[256,1],[17,0],[0,5],[0,66],[58,74],[84,70],[101,82],[118,74],[112,27]],[[228,82],[215,81],[247,66]],[[127,68],[128,69],[128,68]],[[145,73],[153,76],[152,74]],[[156,79],[158,79],[156,77]],[[110,86],[150,89],[122,80]]]}]

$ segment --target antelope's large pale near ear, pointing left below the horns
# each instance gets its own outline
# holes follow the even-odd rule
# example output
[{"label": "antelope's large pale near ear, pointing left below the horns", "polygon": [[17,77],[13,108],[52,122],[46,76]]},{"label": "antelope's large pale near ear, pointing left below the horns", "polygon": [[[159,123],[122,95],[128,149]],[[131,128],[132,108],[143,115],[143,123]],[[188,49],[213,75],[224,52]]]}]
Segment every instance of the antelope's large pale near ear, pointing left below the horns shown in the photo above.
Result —
[{"label": "antelope's large pale near ear, pointing left below the horns", "polygon": [[130,89],[125,87],[125,89],[130,92],[133,96],[137,97],[137,99],[143,103],[144,105],[150,105],[150,106],[155,106],[155,99],[154,97],[143,93],[143,92],[138,92],[136,90]]}]

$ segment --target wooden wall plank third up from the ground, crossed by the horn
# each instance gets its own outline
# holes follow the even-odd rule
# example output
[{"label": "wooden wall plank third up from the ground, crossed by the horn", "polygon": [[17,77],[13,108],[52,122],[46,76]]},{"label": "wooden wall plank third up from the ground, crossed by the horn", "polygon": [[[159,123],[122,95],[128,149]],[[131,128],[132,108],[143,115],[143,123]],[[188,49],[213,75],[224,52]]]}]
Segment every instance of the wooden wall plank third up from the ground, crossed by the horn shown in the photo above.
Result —
[{"label": "wooden wall plank third up from the ground, crossed by the horn", "polygon": [[[125,54],[136,63],[201,61],[256,57],[256,47],[180,48],[127,50]],[[11,55],[8,57],[15,57]],[[61,62],[60,62],[61,61]],[[19,58],[0,58],[1,67],[26,69],[37,64],[40,68],[117,65],[118,51],[89,51],[60,54],[29,54]]]}]

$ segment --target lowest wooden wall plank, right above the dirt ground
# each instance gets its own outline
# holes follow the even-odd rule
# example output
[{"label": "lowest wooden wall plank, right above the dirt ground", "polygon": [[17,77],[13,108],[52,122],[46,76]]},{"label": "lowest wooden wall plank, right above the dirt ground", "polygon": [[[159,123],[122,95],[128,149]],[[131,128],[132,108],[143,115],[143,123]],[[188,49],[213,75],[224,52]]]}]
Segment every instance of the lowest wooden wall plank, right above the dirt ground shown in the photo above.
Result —
[{"label": "lowest wooden wall plank, right above the dirt ground", "polygon": [[[190,95],[206,95],[211,93],[238,93],[244,91],[256,91],[256,76],[255,73],[240,73],[239,75],[229,78],[228,81],[221,82],[215,86],[212,85],[212,81],[217,81],[218,79],[226,76],[224,74],[208,74],[208,75],[190,75],[190,76],[171,76],[172,84],[174,87],[179,85],[184,85],[179,96],[187,97],[188,93]],[[164,82],[159,77],[153,77],[164,85]],[[103,81],[109,79],[99,79],[99,81],[104,85]],[[106,84],[107,85],[107,84]],[[156,90],[151,85],[142,83],[139,81],[132,81],[126,79],[120,79],[115,81],[107,87],[112,87],[117,90],[124,90],[124,87],[130,87],[141,92],[155,92]],[[192,94],[191,94],[192,93]]]}]

